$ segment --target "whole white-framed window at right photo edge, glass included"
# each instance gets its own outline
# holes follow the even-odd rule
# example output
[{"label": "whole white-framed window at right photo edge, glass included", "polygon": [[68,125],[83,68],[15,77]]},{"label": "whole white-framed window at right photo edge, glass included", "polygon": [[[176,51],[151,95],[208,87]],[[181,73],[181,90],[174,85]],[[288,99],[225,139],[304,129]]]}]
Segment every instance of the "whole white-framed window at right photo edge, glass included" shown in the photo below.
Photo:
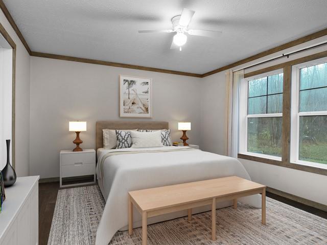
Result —
[{"label": "whole white-framed window at right photo edge, glass included", "polygon": [[293,66],[292,83],[291,162],[327,168],[327,59]]}]

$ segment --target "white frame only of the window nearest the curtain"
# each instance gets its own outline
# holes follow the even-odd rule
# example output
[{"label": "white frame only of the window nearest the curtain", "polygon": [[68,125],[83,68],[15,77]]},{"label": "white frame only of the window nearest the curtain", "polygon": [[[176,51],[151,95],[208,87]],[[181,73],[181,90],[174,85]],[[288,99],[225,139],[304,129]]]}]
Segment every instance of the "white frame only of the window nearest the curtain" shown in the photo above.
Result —
[{"label": "white frame only of the window nearest the curtain", "polygon": [[[239,153],[240,154],[251,155],[253,157],[258,157],[258,158],[282,161],[282,157],[247,151],[247,121],[248,121],[248,118],[268,118],[268,117],[282,117],[283,118],[283,113],[248,115],[249,81],[254,80],[254,79],[263,78],[263,77],[269,77],[269,76],[280,74],[280,73],[284,73],[284,70],[277,69],[274,71],[247,77],[247,78],[244,78],[240,83],[240,105],[239,105]],[[267,82],[268,82],[268,80],[267,80]],[[283,80],[283,83],[284,83],[284,80]],[[268,86],[268,84],[267,84],[267,86]],[[283,91],[283,93],[284,93],[284,91]],[[283,95],[283,93],[278,93],[278,94]],[[268,96],[268,95],[266,95],[266,96]],[[242,103],[243,101],[246,101],[246,103]],[[267,104],[267,107],[268,107],[268,104]]]}]

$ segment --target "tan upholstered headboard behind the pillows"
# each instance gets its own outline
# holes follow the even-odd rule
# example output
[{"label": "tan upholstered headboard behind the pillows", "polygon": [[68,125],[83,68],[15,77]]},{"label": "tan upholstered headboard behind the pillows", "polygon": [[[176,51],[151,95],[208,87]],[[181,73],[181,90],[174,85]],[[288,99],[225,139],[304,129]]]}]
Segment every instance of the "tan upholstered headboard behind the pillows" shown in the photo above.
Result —
[{"label": "tan upholstered headboard behind the pillows", "polygon": [[168,122],[152,121],[98,121],[96,123],[96,148],[103,147],[102,129],[169,129]]}]

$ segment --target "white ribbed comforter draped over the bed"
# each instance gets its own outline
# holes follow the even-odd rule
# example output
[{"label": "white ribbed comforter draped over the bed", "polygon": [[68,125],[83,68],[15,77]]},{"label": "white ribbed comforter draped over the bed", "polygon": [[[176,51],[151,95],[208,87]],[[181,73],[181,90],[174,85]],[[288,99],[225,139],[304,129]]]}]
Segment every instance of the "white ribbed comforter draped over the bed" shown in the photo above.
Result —
[{"label": "white ribbed comforter draped over the bed", "polygon": [[[167,150],[176,149],[176,147],[135,148],[136,151],[158,149]],[[106,153],[117,150],[99,151],[98,176],[101,158]],[[133,148],[119,150],[130,151]],[[201,150],[120,154],[106,158],[103,164],[103,179],[98,179],[106,205],[97,230],[96,245],[107,245],[116,231],[128,225],[128,191],[231,175],[250,180],[249,174],[237,159]],[[260,195],[243,197],[240,201],[254,207],[261,207]],[[141,215],[136,210],[133,213],[133,226],[139,227]],[[148,223],[151,224],[185,214],[180,212],[175,215],[161,216],[161,218],[160,216],[159,218],[153,217],[153,219],[148,220]]]}]

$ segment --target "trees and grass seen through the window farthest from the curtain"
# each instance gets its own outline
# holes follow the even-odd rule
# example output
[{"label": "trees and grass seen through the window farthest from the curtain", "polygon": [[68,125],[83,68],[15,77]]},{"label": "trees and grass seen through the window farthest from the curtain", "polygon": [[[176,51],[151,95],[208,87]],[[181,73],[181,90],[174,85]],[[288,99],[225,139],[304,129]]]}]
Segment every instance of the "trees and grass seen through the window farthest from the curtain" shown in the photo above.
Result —
[{"label": "trees and grass seen through the window farthest from the curtain", "polygon": [[[327,114],[327,63],[302,68],[299,75],[298,157],[327,164],[327,116],[318,115]],[[303,115],[309,112],[313,115]]]}]

